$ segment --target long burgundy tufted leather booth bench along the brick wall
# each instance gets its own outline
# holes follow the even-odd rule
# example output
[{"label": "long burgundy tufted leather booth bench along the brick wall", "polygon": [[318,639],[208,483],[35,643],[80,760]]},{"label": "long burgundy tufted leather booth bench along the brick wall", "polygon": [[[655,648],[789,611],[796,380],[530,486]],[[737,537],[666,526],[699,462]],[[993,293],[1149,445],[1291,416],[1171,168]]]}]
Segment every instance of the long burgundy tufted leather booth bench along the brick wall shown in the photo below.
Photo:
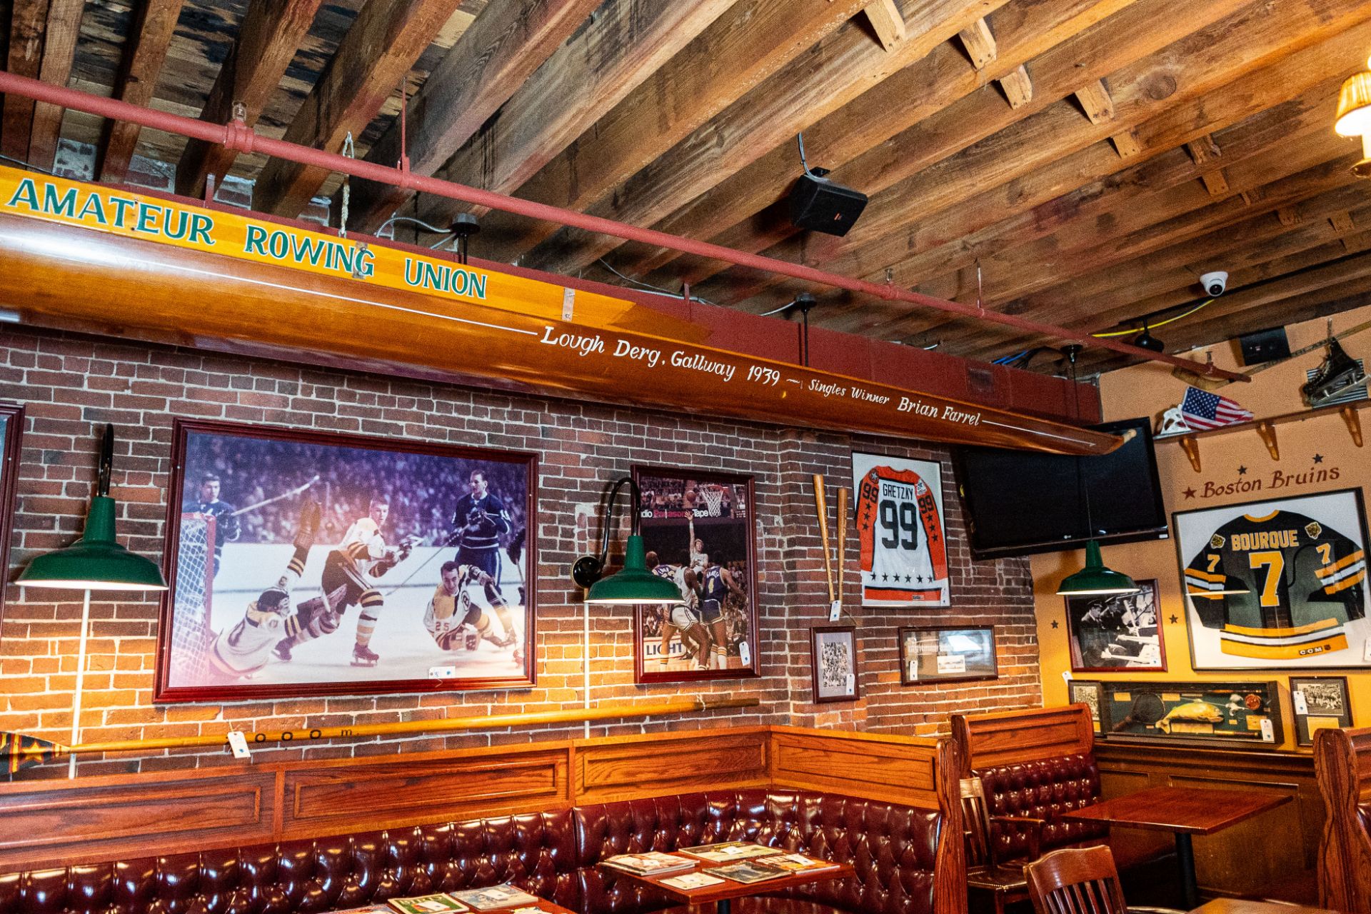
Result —
[{"label": "long burgundy tufted leather booth bench along the brick wall", "polygon": [[817,791],[681,793],[10,873],[0,914],[313,914],[505,881],[585,914],[647,914],[670,902],[603,873],[600,859],[736,839],[857,870],[750,899],[739,914],[932,914],[941,832],[938,810]]}]

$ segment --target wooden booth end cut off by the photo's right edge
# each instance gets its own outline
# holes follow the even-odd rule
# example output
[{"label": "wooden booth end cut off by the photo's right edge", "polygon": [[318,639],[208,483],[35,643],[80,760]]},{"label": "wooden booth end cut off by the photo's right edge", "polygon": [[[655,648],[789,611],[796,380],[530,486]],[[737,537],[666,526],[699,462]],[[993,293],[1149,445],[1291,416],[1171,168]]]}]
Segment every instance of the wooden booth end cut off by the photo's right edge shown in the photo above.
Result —
[{"label": "wooden booth end cut off by the photo's right edge", "polygon": [[1371,822],[1359,810],[1371,803],[1371,728],[1319,730],[1313,766],[1327,813],[1319,843],[1319,906],[1371,914]]}]

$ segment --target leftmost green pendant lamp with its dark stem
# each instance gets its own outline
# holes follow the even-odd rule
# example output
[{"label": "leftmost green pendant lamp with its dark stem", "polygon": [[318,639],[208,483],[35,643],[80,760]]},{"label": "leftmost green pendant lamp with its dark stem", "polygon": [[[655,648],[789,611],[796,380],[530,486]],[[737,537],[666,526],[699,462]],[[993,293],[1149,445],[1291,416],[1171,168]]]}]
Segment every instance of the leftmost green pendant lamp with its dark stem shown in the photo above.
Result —
[{"label": "leftmost green pendant lamp with its dark stem", "polygon": [[85,534],[55,552],[37,556],[18,577],[21,586],[69,591],[165,591],[162,569],[129,552],[114,537],[115,503],[110,497],[114,426],[104,430],[97,495],[90,500]]}]

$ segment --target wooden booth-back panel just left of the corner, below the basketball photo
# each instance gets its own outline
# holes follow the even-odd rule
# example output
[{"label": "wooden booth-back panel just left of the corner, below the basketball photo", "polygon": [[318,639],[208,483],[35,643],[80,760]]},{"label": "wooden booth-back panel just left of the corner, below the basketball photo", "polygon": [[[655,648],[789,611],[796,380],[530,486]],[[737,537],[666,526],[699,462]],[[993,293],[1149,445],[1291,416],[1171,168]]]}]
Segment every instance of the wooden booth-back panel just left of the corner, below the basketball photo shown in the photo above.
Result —
[{"label": "wooden booth-back panel just left of the corner, below the basketball photo", "polygon": [[576,803],[765,787],[768,728],[684,730],[576,741]]}]

